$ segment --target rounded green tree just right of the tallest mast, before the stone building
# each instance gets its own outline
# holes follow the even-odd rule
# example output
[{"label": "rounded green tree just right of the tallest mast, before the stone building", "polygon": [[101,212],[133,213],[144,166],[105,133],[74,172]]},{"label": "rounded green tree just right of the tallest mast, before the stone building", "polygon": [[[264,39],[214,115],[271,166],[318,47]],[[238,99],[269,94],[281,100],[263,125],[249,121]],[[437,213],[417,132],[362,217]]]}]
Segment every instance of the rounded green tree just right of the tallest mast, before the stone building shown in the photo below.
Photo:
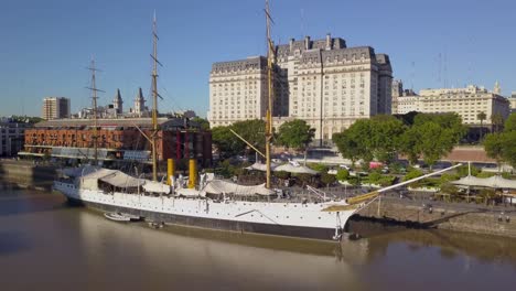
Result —
[{"label": "rounded green tree just right of the tallest mast, before the stone building", "polygon": [[294,119],[284,122],[278,129],[277,143],[295,150],[307,149],[313,140],[315,129],[310,128],[307,121]]}]

